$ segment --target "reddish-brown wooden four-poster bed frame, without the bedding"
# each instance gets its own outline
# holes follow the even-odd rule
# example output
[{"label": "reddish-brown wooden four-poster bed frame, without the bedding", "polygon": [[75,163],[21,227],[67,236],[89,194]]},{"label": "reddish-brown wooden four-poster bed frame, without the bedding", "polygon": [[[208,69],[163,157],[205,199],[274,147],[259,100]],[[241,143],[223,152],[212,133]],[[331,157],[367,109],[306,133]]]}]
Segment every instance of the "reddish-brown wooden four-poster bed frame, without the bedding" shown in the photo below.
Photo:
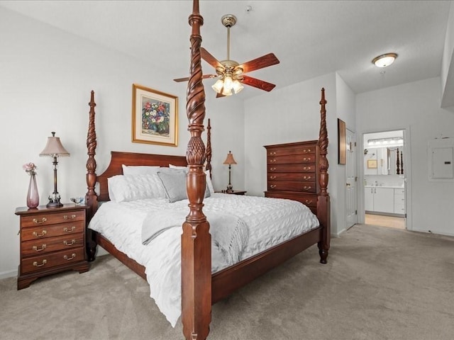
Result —
[{"label": "reddish-brown wooden four-poster bed frame, without the bedding", "polygon": [[[191,66],[187,88],[187,118],[191,135],[187,145],[186,156],[168,156],[159,154],[138,154],[131,152],[111,152],[111,163],[103,174],[96,175],[96,130],[94,124],[96,103],[94,91],[89,102],[89,128],[87,135],[87,194],[89,205],[88,219],[90,220],[98,203],[109,200],[107,179],[122,174],[121,164],[126,165],[160,165],[188,166],[187,193],[189,210],[186,221],[182,225],[182,324],[183,334],[187,340],[203,340],[209,334],[211,322],[211,304],[223,299],[243,285],[270,271],[280,263],[286,261],[309,246],[318,244],[321,263],[326,263],[330,246],[330,198],[328,195],[328,134],[326,130],[326,100],[324,89],[321,90],[321,123],[319,134],[319,186],[317,193],[317,217],[320,227],[305,234],[290,239],[287,242],[267,249],[249,259],[245,259],[234,266],[211,274],[211,235],[209,221],[202,211],[206,178],[206,169],[211,169],[211,135],[210,126],[207,130],[207,146],[201,139],[204,131],[205,92],[202,84],[201,72],[201,35],[200,26],[203,18],[199,13],[199,1],[194,0],[193,12],[189,16],[189,25],[192,26]],[[96,182],[99,182],[99,195],[95,191]],[[118,251],[109,240],[101,234],[87,229],[87,249],[89,261],[94,260],[96,244],[102,246],[126,266],[145,278],[145,268]]]}]

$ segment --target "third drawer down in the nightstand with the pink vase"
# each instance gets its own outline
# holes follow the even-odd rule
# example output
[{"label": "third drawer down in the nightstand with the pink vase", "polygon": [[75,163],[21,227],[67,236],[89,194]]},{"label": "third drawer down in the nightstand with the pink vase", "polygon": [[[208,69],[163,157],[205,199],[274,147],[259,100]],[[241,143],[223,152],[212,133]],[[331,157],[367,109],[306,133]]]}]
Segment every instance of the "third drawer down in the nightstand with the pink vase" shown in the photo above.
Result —
[{"label": "third drawer down in the nightstand with the pink vase", "polygon": [[51,251],[77,248],[84,245],[84,234],[77,233],[59,237],[48,237],[21,243],[21,254],[26,256],[38,256]]}]

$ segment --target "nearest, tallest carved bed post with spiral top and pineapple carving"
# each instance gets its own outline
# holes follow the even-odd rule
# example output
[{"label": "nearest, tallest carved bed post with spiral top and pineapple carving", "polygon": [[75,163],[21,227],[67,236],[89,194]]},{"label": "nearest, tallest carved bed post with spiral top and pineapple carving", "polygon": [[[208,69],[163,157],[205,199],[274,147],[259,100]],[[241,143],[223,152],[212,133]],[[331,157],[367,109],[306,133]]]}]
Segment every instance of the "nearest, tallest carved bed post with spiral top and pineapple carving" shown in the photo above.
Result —
[{"label": "nearest, tallest carved bed post with spiral top and pineapple carving", "polygon": [[209,222],[202,212],[206,178],[203,170],[205,91],[201,72],[200,26],[204,19],[199,13],[199,1],[194,0],[189,16],[191,33],[191,67],[187,87],[187,118],[191,138],[186,159],[189,215],[183,223],[182,234],[182,323],[187,340],[204,340],[211,322],[211,235]]}]

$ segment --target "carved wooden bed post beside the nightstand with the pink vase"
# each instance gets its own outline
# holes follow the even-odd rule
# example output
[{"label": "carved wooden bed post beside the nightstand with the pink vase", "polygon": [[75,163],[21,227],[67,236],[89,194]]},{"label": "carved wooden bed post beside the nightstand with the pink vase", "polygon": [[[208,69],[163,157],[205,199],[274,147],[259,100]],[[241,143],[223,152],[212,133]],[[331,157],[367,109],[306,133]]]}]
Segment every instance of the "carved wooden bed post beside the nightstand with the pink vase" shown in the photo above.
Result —
[{"label": "carved wooden bed post beside the nightstand with the pink vase", "polygon": [[[96,184],[96,159],[94,155],[96,154],[96,130],[94,127],[94,107],[96,103],[94,102],[94,91],[92,91],[92,96],[90,102],[88,103],[90,107],[89,113],[89,125],[87,133],[87,193],[85,194],[85,204],[90,208],[87,212],[87,222],[92,219],[94,212],[98,208],[98,196],[94,191],[94,186]],[[96,253],[96,243],[92,237],[91,229],[87,229],[87,258],[88,261],[94,261],[94,254]]]}]

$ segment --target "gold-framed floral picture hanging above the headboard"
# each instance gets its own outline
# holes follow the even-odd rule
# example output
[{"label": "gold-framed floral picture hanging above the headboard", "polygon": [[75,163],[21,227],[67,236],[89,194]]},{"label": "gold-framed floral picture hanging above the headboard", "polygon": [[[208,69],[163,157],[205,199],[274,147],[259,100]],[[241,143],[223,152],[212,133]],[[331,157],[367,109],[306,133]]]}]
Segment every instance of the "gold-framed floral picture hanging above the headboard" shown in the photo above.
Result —
[{"label": "gold-framed floral picture hanging above the headboard", "polygon": [[133,84],[133,142],[178,145],[178,97]]}]

